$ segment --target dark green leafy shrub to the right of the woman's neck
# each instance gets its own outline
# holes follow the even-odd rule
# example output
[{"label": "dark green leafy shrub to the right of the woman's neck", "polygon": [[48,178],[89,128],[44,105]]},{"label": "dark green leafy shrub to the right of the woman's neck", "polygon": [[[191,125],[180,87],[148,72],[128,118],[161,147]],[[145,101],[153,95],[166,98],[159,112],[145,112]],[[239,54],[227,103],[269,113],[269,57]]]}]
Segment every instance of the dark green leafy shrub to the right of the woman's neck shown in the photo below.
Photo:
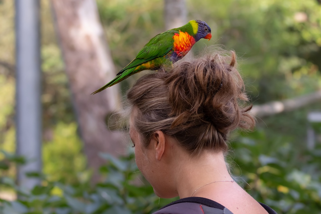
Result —
[{"label": "dark green leafy shrub to the right of the woman's neck", "polygon": [[[321,126],[321,124],[319,124]],[[231,165],[240,184],[277,213],[317,213],[321,209],[321,145],[293,146],[295,136],[270,138],[264,129],[233,142]]]}]

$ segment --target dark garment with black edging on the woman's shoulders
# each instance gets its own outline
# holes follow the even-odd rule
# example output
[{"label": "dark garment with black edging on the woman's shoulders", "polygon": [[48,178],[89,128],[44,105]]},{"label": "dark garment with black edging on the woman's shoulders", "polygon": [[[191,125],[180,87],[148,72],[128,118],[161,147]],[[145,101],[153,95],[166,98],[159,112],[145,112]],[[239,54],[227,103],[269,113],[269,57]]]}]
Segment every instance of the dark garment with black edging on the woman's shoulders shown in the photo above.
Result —
[{"label": "dark garment with black edging on the woman's shoulders", "polygon": [[[260,203],[269,214],[277,214],[269,206]],[[173,201],[153,214],[233,214],[220,203],[202,197],[189,197]]]}]

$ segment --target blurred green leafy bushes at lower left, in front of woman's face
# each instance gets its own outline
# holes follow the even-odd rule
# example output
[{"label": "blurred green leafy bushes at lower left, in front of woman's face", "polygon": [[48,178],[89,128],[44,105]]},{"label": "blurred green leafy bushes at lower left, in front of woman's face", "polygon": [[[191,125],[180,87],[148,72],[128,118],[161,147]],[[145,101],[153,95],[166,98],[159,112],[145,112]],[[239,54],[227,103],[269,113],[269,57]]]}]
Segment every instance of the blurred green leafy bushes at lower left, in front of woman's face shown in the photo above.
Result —
[{"label": "blurred green leafy bushes at lower left, in front of woman's face", "polygon": [[[24,159],[6,153],[0,162],[2,172],[10,165],[23,164]],[[28,191],[17,186],[12,178],[1,177],[0,184],[20,194],[15,201],[0,199],[0,213],[4,214],[131,214],[151,213],[171,202],[153,193],[150,185],[137,184],[138,173],[133,155],[116,159],[100,154],[107,164],[100,168],[104,181],[91,187],[88,179],[76,183],[50,181],[44,175],[30,173],[41,180],[41,185]]]}]

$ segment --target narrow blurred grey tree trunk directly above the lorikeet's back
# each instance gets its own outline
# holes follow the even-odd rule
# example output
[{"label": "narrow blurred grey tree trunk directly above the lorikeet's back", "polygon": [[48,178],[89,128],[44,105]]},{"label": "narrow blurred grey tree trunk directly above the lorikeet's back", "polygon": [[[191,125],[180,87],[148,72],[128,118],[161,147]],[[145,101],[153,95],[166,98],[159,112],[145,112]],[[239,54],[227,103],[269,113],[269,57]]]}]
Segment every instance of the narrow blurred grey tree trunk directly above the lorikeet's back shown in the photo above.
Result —
[{"label": "narrow blurred grey tree trunk directly above the lorikeet's back", "polygon": [[177,28],[187,23],[185,0],[164,0],[165,30]]}]

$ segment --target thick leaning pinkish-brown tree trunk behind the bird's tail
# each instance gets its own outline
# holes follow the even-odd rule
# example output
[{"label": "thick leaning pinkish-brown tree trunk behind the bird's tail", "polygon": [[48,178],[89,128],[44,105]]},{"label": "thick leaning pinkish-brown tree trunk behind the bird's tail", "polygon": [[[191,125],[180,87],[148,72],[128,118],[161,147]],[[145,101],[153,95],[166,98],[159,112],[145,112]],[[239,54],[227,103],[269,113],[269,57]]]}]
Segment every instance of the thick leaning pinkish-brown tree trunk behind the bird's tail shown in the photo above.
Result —
[{"label": "thick leaning pinkish-brown tree trunk behind the bird's tail", "polygon": [[51,0],[51,4],[84,151],[96,182],[104,163],[99,153],[117,156],[126,148],[120,134],[105,124],[106,117],[118,107],[117,85],[91,95],[116,75],[115,67],[94,0]]}]

